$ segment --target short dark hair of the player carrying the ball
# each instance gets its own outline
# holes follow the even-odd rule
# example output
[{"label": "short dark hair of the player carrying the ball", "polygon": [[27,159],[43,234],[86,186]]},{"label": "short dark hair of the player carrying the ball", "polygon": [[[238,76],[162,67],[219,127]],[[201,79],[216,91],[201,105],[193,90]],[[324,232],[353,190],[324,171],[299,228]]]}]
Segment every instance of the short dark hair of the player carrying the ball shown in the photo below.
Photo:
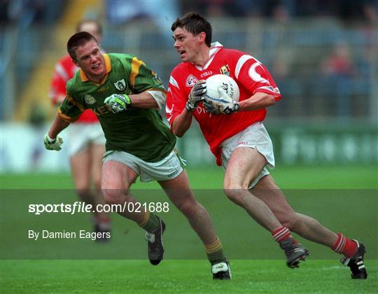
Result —
[{"label": "short dark hair of the player carrying the ball", "polygon": [[186,29],[195,36],[204,31],[206,34],[205,43],[209,47],[211,46],[211,34],[213,29],[211,28],[210,22],[199,13],[190,12],[183,15],[182,18],[177,18],[176,22],[172,24],[171,29],[174,31],[178,27]]}]

